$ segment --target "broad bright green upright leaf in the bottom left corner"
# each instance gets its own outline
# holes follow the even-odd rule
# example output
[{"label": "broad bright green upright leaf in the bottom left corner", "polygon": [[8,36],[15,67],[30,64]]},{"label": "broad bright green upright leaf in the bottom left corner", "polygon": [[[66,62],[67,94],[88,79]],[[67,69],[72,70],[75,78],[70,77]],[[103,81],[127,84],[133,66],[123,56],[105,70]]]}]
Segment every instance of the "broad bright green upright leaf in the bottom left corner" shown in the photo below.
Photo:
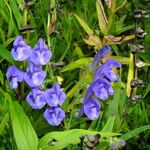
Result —
[{"label": "broad bright green upright leaf in the bottom left corner", "polygon": [[22,107],[18,102],[12,101],[10,97],[9,108],[13,134],[18,150],[37,150],[37,135]]}]

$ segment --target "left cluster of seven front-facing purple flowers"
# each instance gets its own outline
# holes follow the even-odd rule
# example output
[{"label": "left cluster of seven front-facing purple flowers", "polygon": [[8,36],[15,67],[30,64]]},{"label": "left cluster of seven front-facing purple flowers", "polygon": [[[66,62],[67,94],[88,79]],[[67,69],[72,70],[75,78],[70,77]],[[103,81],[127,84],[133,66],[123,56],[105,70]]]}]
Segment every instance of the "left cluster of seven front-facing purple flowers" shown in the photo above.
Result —
[{"label": "left cluster of seven front-facing purple flowers", "polygon": [[44,118],[53,126],[59,125],[64,119],[65,113],[59,107],[66,99],[65,93],[58,83],[46,91],[41,90],[42,83],[46,78],[46,72],[42,66],[46,65],[52,53],[43,39],[39,39],[37,45],[32,49],[24,42],[22,36],[17,36],[11,54],[16,61],[27,61],[26,72],[19,70],[16,66],[10,66],[6,77],[12,89],[18,88],[18,82],[26,82],[31,88],[26,100],[33,109],[41,109],[46,104],[50,106],[44,112]]}]

